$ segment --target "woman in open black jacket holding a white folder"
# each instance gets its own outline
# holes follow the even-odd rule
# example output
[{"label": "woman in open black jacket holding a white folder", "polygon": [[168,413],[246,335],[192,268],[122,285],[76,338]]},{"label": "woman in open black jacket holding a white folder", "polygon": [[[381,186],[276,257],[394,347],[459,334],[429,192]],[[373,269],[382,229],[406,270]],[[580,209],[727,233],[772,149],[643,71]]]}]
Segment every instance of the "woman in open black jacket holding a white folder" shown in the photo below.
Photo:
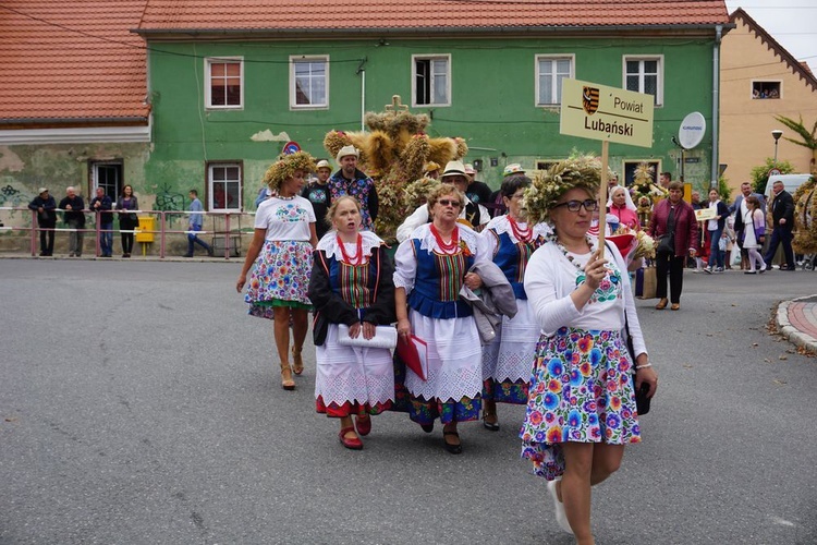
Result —
[{"label": "woman in open black jacket holding a white folder", "polygon": [[[394,372],[388,348],[341,344],[341,335],[375,339],[377,325],[394,322],[393,270],[383,241],[359,230],[356,198],[332,203],[327,222],[332,230],[316,249],[308,291],[316,310],[315,404],[319,413],[340,419],[343,446],[359,450],[359,436],[371,431],[371,415],[391,407]],[[349,332],[340,331],[341,324]]]}]

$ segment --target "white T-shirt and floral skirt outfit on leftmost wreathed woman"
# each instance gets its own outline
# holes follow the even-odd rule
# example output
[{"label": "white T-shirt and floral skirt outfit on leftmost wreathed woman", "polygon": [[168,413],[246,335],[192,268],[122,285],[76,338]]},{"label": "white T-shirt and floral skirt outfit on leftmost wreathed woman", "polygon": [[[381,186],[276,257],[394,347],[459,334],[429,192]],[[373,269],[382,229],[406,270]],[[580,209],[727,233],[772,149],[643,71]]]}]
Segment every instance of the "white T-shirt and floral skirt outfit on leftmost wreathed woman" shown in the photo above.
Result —
[{"label": "white T-shirt and floral skirt outfit on leftmost wreathed woman", "polygon": [[306,290],[312,272],[312,203],[301,196],[273,196],[258,206],[255,228],[266,229],[244,301],[248,314],[275,319],[276,306],[312,308]]}]

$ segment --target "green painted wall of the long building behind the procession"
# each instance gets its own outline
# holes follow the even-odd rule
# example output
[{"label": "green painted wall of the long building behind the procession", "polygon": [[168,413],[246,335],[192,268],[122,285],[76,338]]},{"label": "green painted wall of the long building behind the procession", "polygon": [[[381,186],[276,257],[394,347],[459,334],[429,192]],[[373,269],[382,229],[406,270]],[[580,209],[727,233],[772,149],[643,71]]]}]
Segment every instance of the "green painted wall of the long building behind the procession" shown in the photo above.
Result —
[{"label": "green painted wall of the long building behind the procession", "polygon": [[[610,167],[623,161],[660,161],[679,175],[672,143],[682,119],[699,111],[707,120],[700,145],[686,153],[686,181],[708,186],[711,171],[714,40],[688,38],[502,38],[386,39],[347,41],[150,43],[149,82],[154,149],[145,167],[145,189],[186,194],[206,186],[206,161],[242,161],[244,208],[252,204],[265,170],[292,140],[325,157],[331,129],[359,131],[366,111],[381,111],[392,95],[411,106],[412,56],[451,56],[451,106],[411,108],[431,117],[431,136],[463,136],[467,161],[481,159],[478,179],[498,186],[505,164],[532,169],[537,160],[564,158],[572,150],[600,154],[600,142],[559,134],[559,109],[535,106],[537,55],[575,56],[575,77],[603,85],[622,82],[623,56],[662,56],[663,105],[656,108],[654,146],[611,144]],[[328,55],[329,108],[290,108],[291,56]],[[244,107],[205,108],[205,58],[244,60]],[[365,97],[362,83],[365,71]],[[278,140],[258,140],[268,131]],[[254,135],[256,140],[254,140]],[[497,164],[491,167],[491,159]]]}]

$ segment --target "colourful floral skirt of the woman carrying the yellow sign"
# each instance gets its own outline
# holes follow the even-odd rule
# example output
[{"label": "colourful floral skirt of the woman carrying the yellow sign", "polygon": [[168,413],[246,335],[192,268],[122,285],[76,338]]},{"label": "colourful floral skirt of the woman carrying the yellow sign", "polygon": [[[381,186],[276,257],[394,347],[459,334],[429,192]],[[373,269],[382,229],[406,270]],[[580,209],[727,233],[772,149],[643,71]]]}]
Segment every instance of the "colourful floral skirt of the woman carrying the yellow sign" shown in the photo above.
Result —
[{"label": "colourful floral skirt of the woman carrying the yellow sign", "polygon": [[619,331],[563,327],[539,340],[520,432],[535,474],[564,472],[562,443],[641,441],[632,367]]}]

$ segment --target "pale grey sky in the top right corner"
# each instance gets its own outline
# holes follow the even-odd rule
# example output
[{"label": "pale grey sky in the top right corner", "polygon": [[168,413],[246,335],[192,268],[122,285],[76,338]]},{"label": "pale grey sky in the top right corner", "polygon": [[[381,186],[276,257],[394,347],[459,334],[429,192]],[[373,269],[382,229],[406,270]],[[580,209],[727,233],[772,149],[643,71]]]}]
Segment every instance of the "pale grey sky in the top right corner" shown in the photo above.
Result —
[{"label": "pale grey sky in the top right corner", "polygon": [[817,0],[727,0],[754,19],[800,61],[817,66]]}]

